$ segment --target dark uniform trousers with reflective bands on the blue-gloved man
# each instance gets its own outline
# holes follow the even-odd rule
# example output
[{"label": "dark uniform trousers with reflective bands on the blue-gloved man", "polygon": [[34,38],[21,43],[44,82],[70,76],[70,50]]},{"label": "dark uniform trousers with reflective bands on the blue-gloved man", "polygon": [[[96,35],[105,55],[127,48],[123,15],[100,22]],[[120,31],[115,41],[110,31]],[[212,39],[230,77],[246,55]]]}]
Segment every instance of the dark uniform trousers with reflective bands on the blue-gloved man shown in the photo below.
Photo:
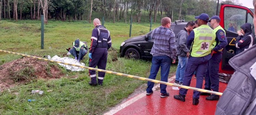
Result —
[{"label": "dark uniform trousers with reflective bands on the blue-gloved man", "polygon": [[[95,48],[91,58],[89,60],[89,67],[95,68],[96,66],[98,69],[105,70],[106,69],[106,62],[108,59],[108,48]],[[96,71],[95,70],[89,70],[89,75],[91,77],[91,82],[97,83],[96,81]],[[98,72],[98,83],[102,84],[103,78],[105,76],[104,72]]]}]

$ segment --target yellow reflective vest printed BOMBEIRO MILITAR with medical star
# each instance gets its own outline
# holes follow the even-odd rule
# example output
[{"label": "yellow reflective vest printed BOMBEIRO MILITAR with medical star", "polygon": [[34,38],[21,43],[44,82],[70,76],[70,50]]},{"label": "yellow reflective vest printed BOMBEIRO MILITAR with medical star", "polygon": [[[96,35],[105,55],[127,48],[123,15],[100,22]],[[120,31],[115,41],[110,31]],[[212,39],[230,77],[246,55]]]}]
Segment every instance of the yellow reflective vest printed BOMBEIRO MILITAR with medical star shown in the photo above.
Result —
[{"label": "yellow reflective vest printed BOMBEIRO MILITAR with medical star", "polygon": [[[214,47],[216,34],[208,25],[201,25],[193,29],[195,38],[190,48],[190,55],[192,57],[204,57],[211,53]],[[215,43],[216,44],[216,43]]]}]

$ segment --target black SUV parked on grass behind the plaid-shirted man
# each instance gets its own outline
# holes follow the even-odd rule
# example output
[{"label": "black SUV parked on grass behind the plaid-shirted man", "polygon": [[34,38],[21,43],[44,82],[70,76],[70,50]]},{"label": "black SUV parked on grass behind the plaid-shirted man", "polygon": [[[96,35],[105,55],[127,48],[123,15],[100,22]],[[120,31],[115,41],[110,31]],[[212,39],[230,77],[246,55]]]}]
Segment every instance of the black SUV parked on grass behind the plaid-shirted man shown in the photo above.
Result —
[{"label": "black SUV parked on grass behind the plaid-shirted man", "polygon": [[[171,29],[176,35],[178,32],[183,29],[188,22],[184,20],[175,21],[175,23],[171,23]],[[121,56],[125,56],[127,58],[141,59],[141,58],[151,58],[153,57],[150,52],[153,47],[154,41],[151,38],[151,32],[148,32],[145,35],[137,36],[125,40],[120,46],[120,54]]]}]

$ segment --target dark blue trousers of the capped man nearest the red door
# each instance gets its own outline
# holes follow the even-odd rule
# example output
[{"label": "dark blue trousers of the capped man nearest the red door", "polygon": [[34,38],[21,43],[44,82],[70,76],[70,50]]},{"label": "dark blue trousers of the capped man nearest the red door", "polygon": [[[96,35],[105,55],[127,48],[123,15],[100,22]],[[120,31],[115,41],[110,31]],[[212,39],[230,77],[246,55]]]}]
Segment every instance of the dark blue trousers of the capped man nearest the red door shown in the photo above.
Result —
[{"label": "dark blue trousers of the capped man nearest the red door", "polygon": [[219,62],[221,62],[222,53],[218,52],[212,55],[207,65],[205,74],[204,89],[219,92]]}]

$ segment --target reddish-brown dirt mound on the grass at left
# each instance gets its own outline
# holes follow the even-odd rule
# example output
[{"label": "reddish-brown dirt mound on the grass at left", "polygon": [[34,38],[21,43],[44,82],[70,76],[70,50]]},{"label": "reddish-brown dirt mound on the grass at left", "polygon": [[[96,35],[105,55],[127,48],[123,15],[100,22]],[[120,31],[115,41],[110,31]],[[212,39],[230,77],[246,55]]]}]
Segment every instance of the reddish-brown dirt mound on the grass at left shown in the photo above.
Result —
[{"label": "reddish-brown dirt mound on the grass at left", "polygon": [[3,64],[0,66],[0,73],[0,90],[37,78],[52,79],[63,76],[54,64],[27,57]]}]

